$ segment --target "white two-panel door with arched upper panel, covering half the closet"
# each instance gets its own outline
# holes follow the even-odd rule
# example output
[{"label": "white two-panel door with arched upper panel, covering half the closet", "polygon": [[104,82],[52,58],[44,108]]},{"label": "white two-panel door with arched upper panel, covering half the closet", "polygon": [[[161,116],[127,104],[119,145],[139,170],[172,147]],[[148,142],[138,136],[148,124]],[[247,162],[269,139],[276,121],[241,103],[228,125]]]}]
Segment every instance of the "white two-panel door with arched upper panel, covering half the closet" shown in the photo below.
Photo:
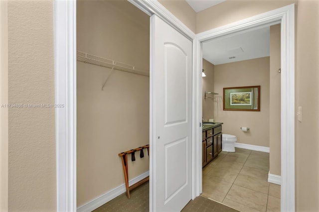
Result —
[{"label": "white two-panel door with arched upper panel, covering half the closet", "polygon": [[151,22],[150,211],[180,211],[192,197],[192,41],[156,15]]}]

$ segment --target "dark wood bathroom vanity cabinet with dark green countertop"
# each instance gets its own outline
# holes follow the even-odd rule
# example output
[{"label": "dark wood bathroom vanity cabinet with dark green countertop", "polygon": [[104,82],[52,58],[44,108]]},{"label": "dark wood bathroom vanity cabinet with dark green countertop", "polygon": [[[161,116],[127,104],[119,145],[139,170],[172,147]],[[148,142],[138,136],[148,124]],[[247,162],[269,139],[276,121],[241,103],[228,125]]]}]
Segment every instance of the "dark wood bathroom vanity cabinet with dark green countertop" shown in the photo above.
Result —
[{"label": "dark wood bathroom vanity cabinet with dark green countertop", "polygon": [[222,122],[203,122],[203,167],[222,151]]}]

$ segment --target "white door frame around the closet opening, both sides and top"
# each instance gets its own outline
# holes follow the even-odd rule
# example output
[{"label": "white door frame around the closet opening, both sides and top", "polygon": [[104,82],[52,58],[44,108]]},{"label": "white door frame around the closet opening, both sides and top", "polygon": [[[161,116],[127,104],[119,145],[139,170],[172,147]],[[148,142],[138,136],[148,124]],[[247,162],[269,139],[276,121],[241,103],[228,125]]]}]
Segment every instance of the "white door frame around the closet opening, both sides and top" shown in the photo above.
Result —
[{"label": "white door frame around the closet opening, both sides and top", "polygon": [[[159,1],[129,0],[135,6],[149,14],[158,15],[170,26],[182,33],[189,40],[195,39],[195,34],[180,20],[171,14]],[[63,108],[55,110],[56,130],[56,190],[57,211],[75,212],[76,204],[76,0],[54,1],[54,73],[55,73],[55,103],[64,104]],[[193,49],[195,49],[193,42]],[[150,46],[152,47],[152,41]],[[193,51],[194,53],[195,51]],[[151,61],[152,68],[152,61]],[[193,55],[193,99],[198,99],[195,88],[200,75],[195,72],[195,55]],[[151,86],[150,82],[150,87]],[[150,91],[152,93],[152,91]],[[198,156],[195,141],[199,136],[200,116],[198,104],[193,101],[192,110],[192,161]],[[152,118],[150,108],[150,119]],[[152,123],[152,121],[151,121]],[[150,125],[150,151],[153,144],[153,126]],[[192,163],[192,170],[197,170],[196,163]],[[150,181],[152,182],[152,153],[150,154]],[[192,176],[192,198],[196,197],[198,178]],[[153,188],[150,183],[150,195]],[[150,196],[150,209],[153,209],[152,195]],[[152,210],[151,210],[152,211]]]}]

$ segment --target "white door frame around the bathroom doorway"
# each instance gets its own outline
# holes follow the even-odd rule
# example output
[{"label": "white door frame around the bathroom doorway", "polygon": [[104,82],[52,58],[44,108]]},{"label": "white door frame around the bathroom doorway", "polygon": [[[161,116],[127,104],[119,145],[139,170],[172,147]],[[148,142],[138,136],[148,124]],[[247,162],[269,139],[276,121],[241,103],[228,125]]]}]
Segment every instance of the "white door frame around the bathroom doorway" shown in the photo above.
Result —
[{"label": "white door frame around the bathroom doorway", "polygon": [[[222,27],[197,34],[197,70],[202,70],[202,43],[230,34],[241,33],[281,23],[281,211],[295,211],[295,5],[291,4]],[[201,81],[197,87],[197,102],[201,107]],[[200,112],[201,114],[201,112]],[[199,135],[201,136],[201,135]],[[201,138],[197,138],[201,148]],[[202,192],[201,156],[197,158],[199,191]]]}]

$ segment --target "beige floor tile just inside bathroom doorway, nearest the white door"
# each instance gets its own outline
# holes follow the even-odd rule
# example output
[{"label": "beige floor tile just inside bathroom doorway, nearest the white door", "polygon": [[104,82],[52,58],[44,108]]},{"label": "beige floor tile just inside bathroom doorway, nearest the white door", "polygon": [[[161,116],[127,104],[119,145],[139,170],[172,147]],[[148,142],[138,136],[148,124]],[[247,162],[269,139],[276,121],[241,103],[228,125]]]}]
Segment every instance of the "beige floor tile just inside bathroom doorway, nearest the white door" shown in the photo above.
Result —
[{"label": "beige floor tile just inside bathroom doorway, nearest the white door", "polygon": [[201,195],[221,203],[227,195],[231,186],[231,183],[204,176],[203,193]]}]

